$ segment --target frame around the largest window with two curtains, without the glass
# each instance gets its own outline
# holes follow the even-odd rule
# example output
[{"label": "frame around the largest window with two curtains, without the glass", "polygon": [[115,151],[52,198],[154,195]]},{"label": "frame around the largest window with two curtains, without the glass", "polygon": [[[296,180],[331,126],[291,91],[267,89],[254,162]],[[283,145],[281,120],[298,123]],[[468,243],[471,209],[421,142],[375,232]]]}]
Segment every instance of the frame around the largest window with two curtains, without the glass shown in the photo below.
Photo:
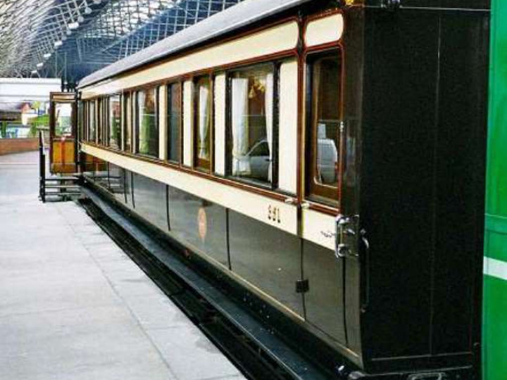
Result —
[{"label": "frame around the largest window with two curtains, without the glass", "polygon": [[[248,65],[237,66],[225,71],[225,177],[234,182],[249,184],[272,191],[278,190],[279,172],[279,125],[280,125],[280,66],[284,59],[277,61],[260,61]],[[271,65],[273,67],[273,136],[271,137],[271,181],[264,182],[249,177],[232,175],[232,75],[234,72],[255,69],[258,66]]]}]

